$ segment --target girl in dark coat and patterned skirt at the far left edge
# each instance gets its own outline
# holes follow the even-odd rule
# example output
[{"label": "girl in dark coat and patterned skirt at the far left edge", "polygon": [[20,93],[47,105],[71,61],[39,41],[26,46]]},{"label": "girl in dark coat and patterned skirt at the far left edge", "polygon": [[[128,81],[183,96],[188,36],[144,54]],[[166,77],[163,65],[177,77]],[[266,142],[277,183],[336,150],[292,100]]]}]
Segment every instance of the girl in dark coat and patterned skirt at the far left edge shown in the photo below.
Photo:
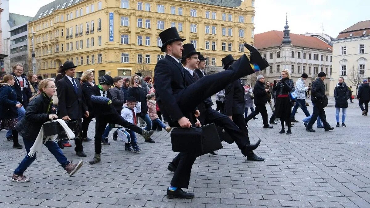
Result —
[{"label": "girl in dark coat and patterned skirt at the far left edge", "polygon": [[13,89],[14,82],[14,77],[7,74],[0,83],[0,129],[11,130],[13,148],[21,149],[23,147],[18,142],[16,124],[18,122],[17,108],[21,108],[22,104],[17,101],[17,94]]}]

